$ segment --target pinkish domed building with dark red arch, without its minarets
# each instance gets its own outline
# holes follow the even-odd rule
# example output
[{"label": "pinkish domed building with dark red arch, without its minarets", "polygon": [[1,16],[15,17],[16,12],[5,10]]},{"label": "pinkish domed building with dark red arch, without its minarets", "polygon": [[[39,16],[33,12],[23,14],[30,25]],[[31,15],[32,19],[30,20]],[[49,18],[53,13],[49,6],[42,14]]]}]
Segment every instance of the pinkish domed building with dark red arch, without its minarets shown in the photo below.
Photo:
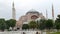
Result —
[{"label": "pinkish domed building with dark red arch, without its minarets", "polygon": [[21,16],[16,23],[17,28],[21,28],[23,24],[28,24],[29,21],[36,20],[38,18],[43,19],[44,16],[42,13],[39,13],[36,10],[30,10],[26,15]]}]

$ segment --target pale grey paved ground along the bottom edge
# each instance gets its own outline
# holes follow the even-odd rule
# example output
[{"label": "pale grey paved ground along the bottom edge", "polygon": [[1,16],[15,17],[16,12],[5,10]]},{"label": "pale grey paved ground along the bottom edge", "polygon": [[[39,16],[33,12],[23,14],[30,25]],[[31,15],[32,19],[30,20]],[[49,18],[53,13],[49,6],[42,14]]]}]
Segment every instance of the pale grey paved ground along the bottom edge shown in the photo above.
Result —
[{"label": "pale grey paved ground along the bottom edge", "polygon": [[[4,32],[0,32],[0,34],[23,34],[23,32],[25,32],[25,34],[36,34],[37,31],[4,31]],[[40,31],[38,31],[40,33]],[[46,34],[46,32],[43,32],[43,34]]]}]

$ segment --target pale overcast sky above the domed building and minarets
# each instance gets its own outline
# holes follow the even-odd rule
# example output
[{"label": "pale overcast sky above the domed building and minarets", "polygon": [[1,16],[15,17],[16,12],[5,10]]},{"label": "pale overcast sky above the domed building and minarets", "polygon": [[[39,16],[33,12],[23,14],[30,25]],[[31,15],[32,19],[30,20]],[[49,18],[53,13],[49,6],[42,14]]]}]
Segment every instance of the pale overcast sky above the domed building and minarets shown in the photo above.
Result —
[{"label": "pale overcast sky above the domed building and minarets", "polygon": [[[0,18],[12,18],[12,3],[13,0],[0,0]],[[52,18],[52,4],[54,6],[54,16],[60,14],[60,0],[14,0],[16,9],[16,19],[25,15],[31,9],[42,12],[46,16],[46,9],[48,11],[48,18]]]}]

